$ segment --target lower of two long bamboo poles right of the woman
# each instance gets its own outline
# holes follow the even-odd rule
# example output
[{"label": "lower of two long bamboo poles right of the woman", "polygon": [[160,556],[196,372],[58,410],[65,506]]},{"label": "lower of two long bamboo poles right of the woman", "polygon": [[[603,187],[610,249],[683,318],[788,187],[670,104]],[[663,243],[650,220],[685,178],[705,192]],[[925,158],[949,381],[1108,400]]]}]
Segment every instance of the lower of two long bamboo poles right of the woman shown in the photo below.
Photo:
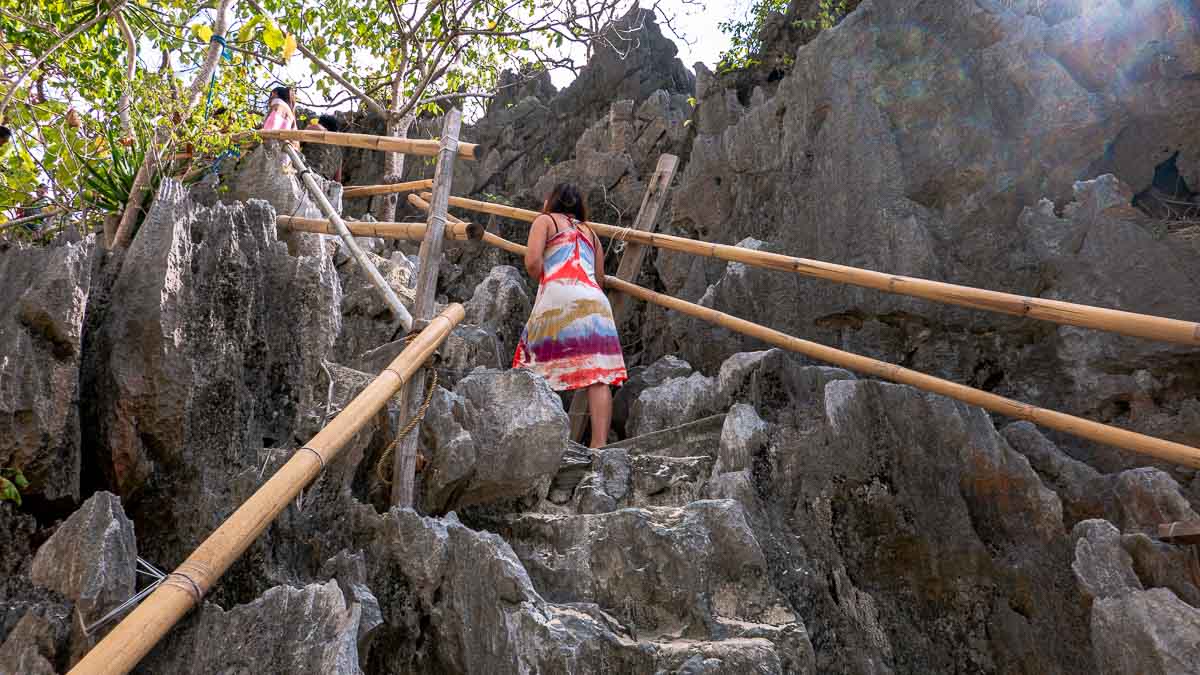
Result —
[{"label": "lower of two long bamboo poles right of the woman", "polygon": [[890,380],[892,382],[898,382],[900,384],[908,384],[918,389],[924,389],[925,392],[949,396],[958,401],[962,401],[972,406],[979,406],[984,410],[989,410],[1006,417],[1025,419],[1032,422],[1033,424],[1045,426],[1046,429],[1055,429],[1081,438],[1096,441],[1097,443],[1124,448],[1127,450],[1164,459],[1175,464],[1200,467],[1200,449],[1190,446],[1154,438],[1153,436],[1146,436],[1145,434],[1109,426],[1106,424],[1100,424],[1098,422],[1092,422],[1090,419],[1074,417],[1052,410],[1039,408],[1037,406],[1031,406],[1030,404],[1022,404],[1020,401],[997,396],[996,394],[980,392],[979,389],[974,389],[965,384],[958,384],[931,375],[925,375],[924,372],[908,370],[907,368],[901,368],[895,364],[852,354],[850,352],[844,352],[841,350],[835,350],[833,347],[827,347],[808,340],[800,340],[799,338],[793,338],[785,333],[780,333],[779,330],[758,325],[757,323],[737,318],[709,307],[702,307],[694,303],[672,298],[671,295],[655,293],[654,291],[642,288],[641,286],[636,286],[620,279],[610,276],[606,281],[610,288],[622,293],[628,293],[634,298],[647,303],[654,303],[655,305],[670,310],[676,310],[743,335],[757,338],[769,345],[798,352],[814,359],[840,365],[842,368],[881,377],[883,380]]}]

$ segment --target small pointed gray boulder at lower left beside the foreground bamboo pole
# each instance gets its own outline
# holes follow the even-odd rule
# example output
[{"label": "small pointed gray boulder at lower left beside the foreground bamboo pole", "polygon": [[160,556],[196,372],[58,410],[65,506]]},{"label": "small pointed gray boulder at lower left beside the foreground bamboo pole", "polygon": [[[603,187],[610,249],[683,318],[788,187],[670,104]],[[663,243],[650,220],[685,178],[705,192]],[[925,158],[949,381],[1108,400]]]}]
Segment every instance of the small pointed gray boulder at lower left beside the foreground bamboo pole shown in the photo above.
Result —
[{"label": "small pointed gray boulder at lower left beside the foreground bamboo pole", "polygon": [[37,549],[30,578],[73,601],[90,623],[133,595],[137,557],[121,501],[96,492]]}]

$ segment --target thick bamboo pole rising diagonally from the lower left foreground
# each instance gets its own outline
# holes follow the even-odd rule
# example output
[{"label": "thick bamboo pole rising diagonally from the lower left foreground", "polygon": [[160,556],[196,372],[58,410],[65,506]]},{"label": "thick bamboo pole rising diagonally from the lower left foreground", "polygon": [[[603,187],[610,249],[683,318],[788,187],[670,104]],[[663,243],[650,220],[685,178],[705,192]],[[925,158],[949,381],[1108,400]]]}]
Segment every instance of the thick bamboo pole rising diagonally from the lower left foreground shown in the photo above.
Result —
[{"label": "thick bamboo pole rising diagonally from the lower left foreground", "polygon": [[397,356],[308,444],[296,450],[233,515],[167,580],[134,609],[112,633],[71,669],[72,675],[128,673],[170,631],[251,543],[287,508],[320,471],[337,458],[342,447],[409,382],[462,321],[462,305],[448,306],[428,328]]}]

